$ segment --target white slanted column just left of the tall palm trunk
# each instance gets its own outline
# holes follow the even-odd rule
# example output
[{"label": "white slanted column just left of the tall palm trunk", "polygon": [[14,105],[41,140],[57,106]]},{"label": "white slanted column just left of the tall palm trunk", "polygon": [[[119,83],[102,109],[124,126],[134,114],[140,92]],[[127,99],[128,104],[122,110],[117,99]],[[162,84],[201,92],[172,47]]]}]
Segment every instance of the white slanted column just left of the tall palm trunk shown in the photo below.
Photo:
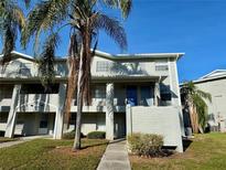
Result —
[{"label": "white slanted column just left of the tall palm trunk", "polygon": [[66,97],[66,84],[60,84],[58,107],[55,114],[54,139],[62,139],[64,128],[64,103]]}]

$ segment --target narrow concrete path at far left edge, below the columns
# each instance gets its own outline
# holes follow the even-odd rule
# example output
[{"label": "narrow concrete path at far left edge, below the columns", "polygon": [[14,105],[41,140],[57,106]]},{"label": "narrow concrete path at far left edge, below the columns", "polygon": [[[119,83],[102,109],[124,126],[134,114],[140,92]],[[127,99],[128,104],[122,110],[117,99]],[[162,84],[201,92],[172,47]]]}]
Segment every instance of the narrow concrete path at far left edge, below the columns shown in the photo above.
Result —
[{"label": "narrow concrete path at far left edge, below the columns", "polygon": [[0,148],[7,148],[7,147],[11,147],[11,146],[15,146],[25,141],[30,141],[33,139],[37,139],[37,138],[50,138],[50,136],[31,136],[31,137],[21,137],[19,140],[15,141],[7,141],[7,142],[1,142],[0,144]]}]

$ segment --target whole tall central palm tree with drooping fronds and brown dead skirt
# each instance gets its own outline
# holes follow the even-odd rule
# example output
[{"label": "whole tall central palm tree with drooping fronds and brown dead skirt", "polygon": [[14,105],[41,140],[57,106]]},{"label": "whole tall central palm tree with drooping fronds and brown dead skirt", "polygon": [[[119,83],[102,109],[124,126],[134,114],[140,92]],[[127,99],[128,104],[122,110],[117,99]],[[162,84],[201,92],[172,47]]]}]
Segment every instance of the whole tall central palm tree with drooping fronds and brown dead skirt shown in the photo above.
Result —
[{"label": "whole tall central palm tree with drooping fronds and brown dead skirt", "polygon": [[[83,105],[90,104],[90,64],[98,42],[98,32],[104,30],[121,47],[127,47],[126,33],[119,21],[99,9],[104,4],[120,9],[126,19],[131,9],[131,0],[49,0],[42,1],[29,13],[28,26],[23,32],[23,45],[31,36],[39,36],[44,31],[49,34],[41,53],[40,71],[44,83],[52,83],[54,53],[58,42],[58,32],[69,26],[68,83],[65,113],[69,117],[73,95],[77,95],[76,132],[73,149],[80,148],[80,119]],[[93,49],[93,50],[90,50]]]}]

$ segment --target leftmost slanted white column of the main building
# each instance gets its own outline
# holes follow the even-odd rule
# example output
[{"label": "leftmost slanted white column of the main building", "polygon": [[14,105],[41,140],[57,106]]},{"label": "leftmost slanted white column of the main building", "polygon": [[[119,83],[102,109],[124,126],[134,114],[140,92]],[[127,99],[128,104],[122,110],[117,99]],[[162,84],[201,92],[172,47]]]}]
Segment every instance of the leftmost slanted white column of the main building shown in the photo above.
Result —
[{"label": "leftmost slanted white column of the main building", "polygon": [[10,111],[7,120],[7,128],[4,132],[4,137],[12,138],[14,135],[14,128],[17,124],[17,106],[19,102],[21,85],[14,85],[12,92],[12,100],[10,106]]}]

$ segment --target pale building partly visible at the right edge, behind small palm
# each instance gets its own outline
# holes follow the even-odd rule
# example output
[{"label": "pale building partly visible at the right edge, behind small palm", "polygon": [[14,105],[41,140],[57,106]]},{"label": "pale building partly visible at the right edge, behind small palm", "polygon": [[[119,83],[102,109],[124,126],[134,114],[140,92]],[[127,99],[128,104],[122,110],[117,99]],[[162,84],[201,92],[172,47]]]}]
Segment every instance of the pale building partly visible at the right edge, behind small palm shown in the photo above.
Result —
[{"label": "pale building partly visible at the right edge, behind small palm", "polygon": [[226,132],[226,70],[213,71],[193,83],[198,89],[212,95],[212,102],[205,100],[211,130]]}]

